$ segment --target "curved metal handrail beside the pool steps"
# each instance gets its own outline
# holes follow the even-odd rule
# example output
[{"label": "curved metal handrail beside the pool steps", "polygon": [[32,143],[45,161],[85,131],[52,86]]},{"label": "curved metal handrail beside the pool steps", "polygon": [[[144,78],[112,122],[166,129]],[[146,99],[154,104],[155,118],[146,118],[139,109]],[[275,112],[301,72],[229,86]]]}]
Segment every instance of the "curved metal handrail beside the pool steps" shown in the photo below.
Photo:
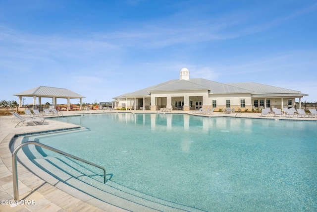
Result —
[{"label": "curved metal handrail beside the pool steps", "polygon": [[101,168],[104,170],[104,183],[106,183],[106,169],[100,165],[97,165],[95,163],[92,163],[88,160],[84,160],[80,157],[76,157],[74,155],[71,155],[71,154],[68,154],[66,152],[63,152],[61,150],[58,150],[58,149],[55,149],[51,146],[48,146],[48,145],[45,145],[43,143],[39,143],[39,142],[36,142],[36,141],[27,141],[27,142],[24,142],[20,145],[18,145],[12,152],[12,175],[13,175],[13,194],[14,194],[14,200],[15,201],[19,201],[19,185],[18,185],[18,170],[17,170],[17,152],[20,148],[22,148],[23,146],[26,146],[26,145],[29,145],[29,144],[34,144],[34,145],[37,145],[37,146],[41,146],[43,148],[46,148],[46,149],[49,149],[51,151],[54,151],[54,152],[57,152],[59,154],[62,154],[62,155],[65,155],[67,157],[71,157],[73,159],[76,159],[76,160],[79,160],[81,162],[84,162],[84,163],[87,163],[87,164],[90,164],[92,166],[95,166],[97,168]]}]

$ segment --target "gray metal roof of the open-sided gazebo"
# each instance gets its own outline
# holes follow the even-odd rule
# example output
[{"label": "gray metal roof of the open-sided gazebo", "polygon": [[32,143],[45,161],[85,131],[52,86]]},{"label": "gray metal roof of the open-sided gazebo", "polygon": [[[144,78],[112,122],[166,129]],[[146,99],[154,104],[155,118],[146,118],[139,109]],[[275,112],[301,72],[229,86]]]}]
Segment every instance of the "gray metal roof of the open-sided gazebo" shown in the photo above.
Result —
[{"label": "gray metal roof of the open-sided gazebo", "polygon": [[13,96],[39,96],[39,97],[58,97],[58,98],[86,98],[78,93],[65,88],[39,86]]}]

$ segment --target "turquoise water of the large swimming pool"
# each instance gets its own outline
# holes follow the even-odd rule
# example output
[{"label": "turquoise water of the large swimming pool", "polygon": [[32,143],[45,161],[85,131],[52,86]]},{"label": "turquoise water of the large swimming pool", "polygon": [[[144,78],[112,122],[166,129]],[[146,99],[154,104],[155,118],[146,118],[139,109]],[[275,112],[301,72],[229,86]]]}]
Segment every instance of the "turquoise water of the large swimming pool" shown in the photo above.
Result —
[{"label": "turquoise water of the large swimming pool", "polygon": [[188,211],[317,210],[316,122],[130,113],[57,120],[90,131],[28,139]]}]

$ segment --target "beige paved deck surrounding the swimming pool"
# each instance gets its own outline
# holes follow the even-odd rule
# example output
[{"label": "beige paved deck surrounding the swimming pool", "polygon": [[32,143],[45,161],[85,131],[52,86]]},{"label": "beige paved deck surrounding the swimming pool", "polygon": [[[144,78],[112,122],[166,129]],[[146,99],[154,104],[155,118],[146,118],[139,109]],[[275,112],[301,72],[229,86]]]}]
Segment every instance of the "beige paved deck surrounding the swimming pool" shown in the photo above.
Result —
[{"label": "beige paved deck surrounding the swimming pool", "polygon": [[[64,111],[63,116],[72,116],[79,114],[94,114],[94,113],[153,113],[153,111]],[[155,112],[155,111],[154,111]],[[158,113],[158,112],[156,112]],[[172,113],[188,113],[192,115],[192,111],[172,111]],[[317,118],[297,118],[297,117],[261,117],[261,113],[218,113],[214,112],[212,115],[202,115],[207,117],[239,117],[239,118],[262,118],[262,119],[279,119],[279,120],[305,120],[305,121],[317,121]],[[50,116],[46,116],[50,117]],[[52,117],[52,116],[51,116]],[[36,211],[48,211],[48,212],[66,212],[66,211],[107,211],[117,212],[125,211],[123,209],[106,204],[96,198],[80,192],[76,189],[66,187],[62,183],[58,185],[51,185],[44,181],[31,170],[24,167],[18,162],[18,179],[19,179],[19,198],[22,200],[22,204],[15,207],[11,207],[7,203],[13,199],[13,183],[12,183],[12,161],[11,150],[9,149],[9,143],[15,135],[26,133],[37,133],[43,131],[52,131],[68,128],[77,128],[78,125],[59,122],[55,120],[47,120],[47,124],[38,126],[26,126],[15,127],[16,123],[11,122],[12,116],[0,117],[0,212],[36,212]],[[67,192],[65,192],[65,190]],[[3,204],[4,203],[4,204]],[[34,204],[35,203],[35,204]]]}]

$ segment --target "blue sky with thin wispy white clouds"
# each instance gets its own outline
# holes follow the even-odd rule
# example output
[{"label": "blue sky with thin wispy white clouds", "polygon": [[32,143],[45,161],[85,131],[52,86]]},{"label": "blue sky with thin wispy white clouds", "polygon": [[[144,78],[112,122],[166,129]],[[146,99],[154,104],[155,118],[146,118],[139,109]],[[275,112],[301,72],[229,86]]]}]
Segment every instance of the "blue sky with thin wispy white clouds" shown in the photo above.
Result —
[{"label": "blue sky with thin wispy white clouds", "polygon": [[43,85],[111,101],[182,68],[315,102],[317,1],[0,0],[0,100]]}]

